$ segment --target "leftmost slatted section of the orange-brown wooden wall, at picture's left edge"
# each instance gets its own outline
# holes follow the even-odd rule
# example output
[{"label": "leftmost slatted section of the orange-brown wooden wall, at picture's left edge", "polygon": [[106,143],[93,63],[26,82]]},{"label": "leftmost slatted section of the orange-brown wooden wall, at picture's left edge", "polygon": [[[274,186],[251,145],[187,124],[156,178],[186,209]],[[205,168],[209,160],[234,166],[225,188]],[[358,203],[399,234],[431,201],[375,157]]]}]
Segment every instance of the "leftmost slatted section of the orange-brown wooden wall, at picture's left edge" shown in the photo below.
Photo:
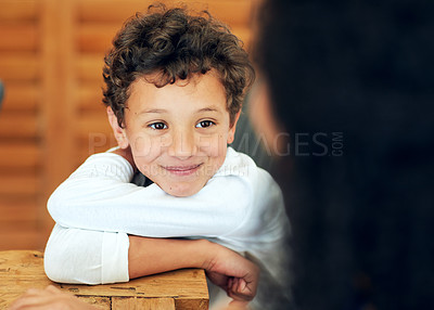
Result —
[{"label": "leftmost slatted section of the orange-brown wooden wall, at picture's left edge", "polygon": [[[0,248],[40,244],[40,14],[36,1],[1,1]],[[13,240],[11,238],[13,236]]]}]

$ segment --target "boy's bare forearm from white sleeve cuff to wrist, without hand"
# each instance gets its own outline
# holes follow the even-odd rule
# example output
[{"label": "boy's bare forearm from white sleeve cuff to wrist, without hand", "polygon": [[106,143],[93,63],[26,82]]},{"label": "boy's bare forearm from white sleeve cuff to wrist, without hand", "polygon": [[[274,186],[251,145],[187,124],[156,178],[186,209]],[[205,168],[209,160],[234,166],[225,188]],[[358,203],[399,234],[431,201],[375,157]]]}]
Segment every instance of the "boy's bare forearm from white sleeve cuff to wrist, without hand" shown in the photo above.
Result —
[{"label": "boy's bare forearm from white sleeve cuff to wrist, without hand", "polygon": [[205,240],[150,238],[129,235],[130,279],[182,269],[203,268],[217,249]]}]

